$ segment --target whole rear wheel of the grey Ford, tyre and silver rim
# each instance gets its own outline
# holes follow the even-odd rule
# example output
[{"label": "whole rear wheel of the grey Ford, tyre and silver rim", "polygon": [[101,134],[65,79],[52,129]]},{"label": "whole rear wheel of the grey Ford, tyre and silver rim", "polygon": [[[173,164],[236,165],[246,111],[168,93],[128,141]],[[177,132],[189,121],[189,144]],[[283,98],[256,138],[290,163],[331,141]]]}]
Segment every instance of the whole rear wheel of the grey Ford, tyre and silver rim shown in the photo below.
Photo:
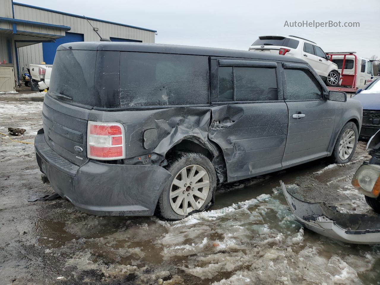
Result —
[{"label": "whole rear wheel of the grey Ford, tyre and silver rim", "polygon": [[164,220],[180,220],[203,211],[216,188],[215,168],[203,154],[174,152],[165,167],[172,175],[158,199],[156,214]]}]

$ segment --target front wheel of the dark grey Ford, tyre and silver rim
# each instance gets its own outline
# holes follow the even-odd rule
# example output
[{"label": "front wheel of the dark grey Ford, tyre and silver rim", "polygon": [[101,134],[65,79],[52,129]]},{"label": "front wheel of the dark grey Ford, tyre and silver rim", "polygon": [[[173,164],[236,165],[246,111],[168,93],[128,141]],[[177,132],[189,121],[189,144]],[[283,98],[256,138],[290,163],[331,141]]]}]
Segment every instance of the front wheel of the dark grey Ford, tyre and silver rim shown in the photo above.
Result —
[{"label": "front wheel of the dark grey Ford, tyre and silver rim", "polygon": [[344,164],[351,160],[358,143],[358,128],[354,122],[347,122],[339,133],[332,159],[338,164]]}]

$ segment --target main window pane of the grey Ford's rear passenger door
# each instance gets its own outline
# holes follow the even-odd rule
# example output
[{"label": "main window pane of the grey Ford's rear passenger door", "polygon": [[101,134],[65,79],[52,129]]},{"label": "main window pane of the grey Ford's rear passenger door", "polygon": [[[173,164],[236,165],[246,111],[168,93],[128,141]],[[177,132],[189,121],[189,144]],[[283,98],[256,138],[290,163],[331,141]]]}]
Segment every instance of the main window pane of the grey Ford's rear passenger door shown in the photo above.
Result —
[{"label": "main window pane of the grey Ford's rear passenger door", "polygon": [[277,100],[275,68],[234,67],[235,101]]}]

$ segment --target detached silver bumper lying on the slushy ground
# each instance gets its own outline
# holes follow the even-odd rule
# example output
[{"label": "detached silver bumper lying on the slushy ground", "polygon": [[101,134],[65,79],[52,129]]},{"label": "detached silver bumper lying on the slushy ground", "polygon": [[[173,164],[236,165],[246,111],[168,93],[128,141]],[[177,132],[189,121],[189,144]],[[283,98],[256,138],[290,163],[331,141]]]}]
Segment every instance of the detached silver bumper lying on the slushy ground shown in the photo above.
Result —
[{"label": "detached silver bumper lying on the slushy ground", "polygon": [[350,244],[380,243],[380,216],[344,214],[324,202],[302,201],[280,184],[294,216],[309,230]]}]

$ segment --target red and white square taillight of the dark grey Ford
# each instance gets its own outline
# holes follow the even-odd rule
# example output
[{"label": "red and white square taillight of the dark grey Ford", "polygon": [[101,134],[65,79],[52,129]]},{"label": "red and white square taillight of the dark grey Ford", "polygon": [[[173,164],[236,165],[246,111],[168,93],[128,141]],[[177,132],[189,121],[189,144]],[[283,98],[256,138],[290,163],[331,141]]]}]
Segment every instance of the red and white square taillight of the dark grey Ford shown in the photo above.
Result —
[{"label": "red and white square taillight of the dark grey Ford", "polygon": [[87,157],[100,160],[125,158],[123,125],[89,121],[87,124]]}]

